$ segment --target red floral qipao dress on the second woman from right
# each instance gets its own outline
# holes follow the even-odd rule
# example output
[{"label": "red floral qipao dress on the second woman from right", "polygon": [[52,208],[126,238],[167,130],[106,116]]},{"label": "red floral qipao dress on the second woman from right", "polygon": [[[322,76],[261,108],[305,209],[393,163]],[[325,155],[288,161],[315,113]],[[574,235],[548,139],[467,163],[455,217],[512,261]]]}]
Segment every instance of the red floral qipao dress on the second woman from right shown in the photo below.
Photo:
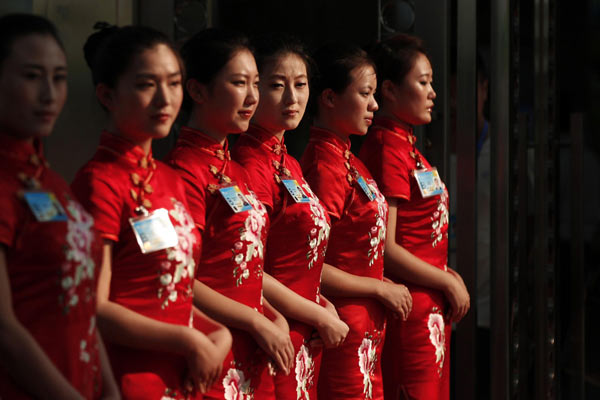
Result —
[{"label": "red floral qipao dress on the second woman from right", "polygon": [[[350,152],[350,141],[313,127],[301,163],[306,181],[331,218],[325,262],[354,275],[383,279],[387,203],[369,171]],[[323,350],[319,398],[383,399],[383,305],[370,298],[331,301],[350,332],[340,347]]]}]

